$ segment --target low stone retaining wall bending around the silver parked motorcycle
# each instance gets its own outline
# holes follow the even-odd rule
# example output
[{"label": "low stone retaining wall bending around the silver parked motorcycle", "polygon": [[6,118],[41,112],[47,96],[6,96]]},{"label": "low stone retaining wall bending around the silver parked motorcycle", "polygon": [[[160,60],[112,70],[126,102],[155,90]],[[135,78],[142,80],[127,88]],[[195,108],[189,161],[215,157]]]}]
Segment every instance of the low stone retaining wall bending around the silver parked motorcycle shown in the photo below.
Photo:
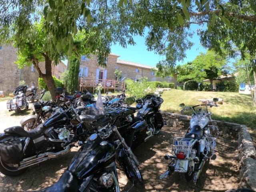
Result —
[{"label": "low stone retaining wall bending around the silver parked motorcycle", "polygon": [[[161,112],[168,126],[188,128],[191,117],[186,115]],[[240,188],[250,188],[256,191],[256,150],[245,125],[215,121],[220,136],[234,136],[238,138],[238,158],[240,169]]]}]

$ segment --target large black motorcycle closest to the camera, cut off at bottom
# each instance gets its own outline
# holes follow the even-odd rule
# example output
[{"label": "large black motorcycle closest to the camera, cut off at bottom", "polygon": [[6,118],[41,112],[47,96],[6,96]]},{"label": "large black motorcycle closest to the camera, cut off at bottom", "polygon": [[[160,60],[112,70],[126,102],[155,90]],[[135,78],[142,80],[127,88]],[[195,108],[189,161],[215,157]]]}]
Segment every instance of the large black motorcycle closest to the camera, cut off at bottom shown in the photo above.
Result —
[{"label": "large black motorcycle closest to the camera, cut off at bottom", "polygon": [[[96,115],[90,122],[95,133],[81,146],[58,182],[38,192],[120,192],[116,162],[122,166],[133,184],[132,187],[144,187],[138,168],[139,161],[115,126],[123,114],[121,111]],[[107,124],[98,126],[99,121]],[[79,136],[64,146],[69,146],[78,138]]]}]

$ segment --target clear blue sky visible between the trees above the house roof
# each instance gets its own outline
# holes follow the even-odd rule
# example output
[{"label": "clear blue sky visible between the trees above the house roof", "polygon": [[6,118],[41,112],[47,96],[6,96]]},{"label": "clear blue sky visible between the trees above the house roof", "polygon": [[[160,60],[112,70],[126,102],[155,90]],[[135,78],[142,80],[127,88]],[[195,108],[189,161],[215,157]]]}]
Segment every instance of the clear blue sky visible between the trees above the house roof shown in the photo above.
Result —
[{"label": "clear blue sky visible between the trees above the house roof", "polygon": [[[195,32],[193,38],[190,39],[194,43],[194,46],[190,50],[186,51],[186,58],[184,58],[184,61],[178,62],[177,64],[185,64],[188,61],[194,60],[200,52],[206,52],[206,49],[201,46],[199,36],[196,33],[196,30],[199,27],[200,26],[196,24],[193,24],[190,27],[190,30]],[[136,45],[129,45],[127,48],[123,48],[119,44],[112,45],[111,52],[120,55],[118,59],[141,63],[149,66],[156,66],[156,63],[164,59],[162,56],[154,54],[152,51],[147,51],[144,37],[134,36],[134,41],[136,42]]]}]

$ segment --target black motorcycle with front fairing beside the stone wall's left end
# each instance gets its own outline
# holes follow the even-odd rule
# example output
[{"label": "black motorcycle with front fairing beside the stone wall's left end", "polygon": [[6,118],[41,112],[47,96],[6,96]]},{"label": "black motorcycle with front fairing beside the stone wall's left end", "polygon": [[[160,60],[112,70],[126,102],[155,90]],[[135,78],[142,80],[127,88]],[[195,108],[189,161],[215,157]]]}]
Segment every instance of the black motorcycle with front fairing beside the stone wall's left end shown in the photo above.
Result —
[{"label": "black motorcycle with front fairing beside the stone wall's left end", "polygon": [[136,108],[140,109],[136,118],[145,120],[148,124],[148,136],[157,135],[166,124],[160,113],[160,107],[164,100],[156,94],[147,94],[143,98],[136,100]]}]

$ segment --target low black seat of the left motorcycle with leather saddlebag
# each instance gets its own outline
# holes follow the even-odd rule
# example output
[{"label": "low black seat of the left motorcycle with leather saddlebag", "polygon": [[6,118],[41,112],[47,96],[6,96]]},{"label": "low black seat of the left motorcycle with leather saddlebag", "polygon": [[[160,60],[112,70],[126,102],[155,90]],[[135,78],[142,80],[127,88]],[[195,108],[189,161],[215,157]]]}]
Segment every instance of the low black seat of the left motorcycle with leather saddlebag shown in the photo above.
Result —
[{"label": "low black seat of the left motorcycle with leather saddlebag", "polygon": [[31,131],[25,131],[24,128],[22,128],[21,126],[14,126],[14,127],[5,129],[4,132],[5,133],[15,133],[22,137],[33,138],[33,137],[38,136],[44,132],[44,126],[43,126],[43,124],[40,124]]}]

